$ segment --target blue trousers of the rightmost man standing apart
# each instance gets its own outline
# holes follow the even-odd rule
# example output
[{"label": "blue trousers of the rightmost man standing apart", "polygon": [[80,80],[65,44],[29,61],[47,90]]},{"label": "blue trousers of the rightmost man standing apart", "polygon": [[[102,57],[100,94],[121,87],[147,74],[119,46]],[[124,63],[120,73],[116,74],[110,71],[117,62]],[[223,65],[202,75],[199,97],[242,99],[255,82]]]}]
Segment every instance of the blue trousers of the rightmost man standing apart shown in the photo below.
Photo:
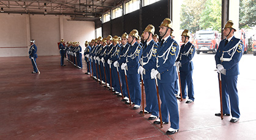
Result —
[{"label": "blue trousers of the rightmost man standing apart", "polygon": [[222,108],[224,114],[230,114],[229,100],[232,117],[240,118],[238,91],[236,88],[238,75],[226,76],[221,74]]}]

